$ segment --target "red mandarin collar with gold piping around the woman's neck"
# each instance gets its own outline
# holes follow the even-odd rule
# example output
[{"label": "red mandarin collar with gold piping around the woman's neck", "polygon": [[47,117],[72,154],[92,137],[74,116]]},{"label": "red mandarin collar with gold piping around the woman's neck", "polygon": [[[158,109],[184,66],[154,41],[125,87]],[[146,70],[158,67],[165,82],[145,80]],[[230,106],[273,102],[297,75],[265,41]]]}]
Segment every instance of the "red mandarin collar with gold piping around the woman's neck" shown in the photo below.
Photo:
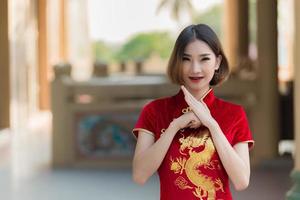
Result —
[{"label": "red mandarin collar with gold piping around the woman's neck", "polygon": [[[214,91],[212,88],[210,88],[202,97],[201,100],[204,101],[204,103],[210,108],[215,100]],[[182,89],[179,90],[179,92],[175,95],[175,101],[180,107],[188,107],[188,104],[184,100],[184,93]]]}]

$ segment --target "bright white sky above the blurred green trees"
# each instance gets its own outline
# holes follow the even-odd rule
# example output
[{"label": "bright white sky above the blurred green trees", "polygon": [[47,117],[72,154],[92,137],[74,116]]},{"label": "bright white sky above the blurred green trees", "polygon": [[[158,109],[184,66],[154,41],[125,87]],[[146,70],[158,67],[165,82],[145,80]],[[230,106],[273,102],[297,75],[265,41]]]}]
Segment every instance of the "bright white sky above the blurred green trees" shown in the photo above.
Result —
[{"label": "bright white sky above the blurred green trees", "polygon": [[[156,14],[160,0],[89,0],[89,33],[93,40],[123,42],[137,32],[171,30],[177,32],[179,25],[163,8]],[[196,10],[204,10],[222,0],[192,0]],[[188,23],[183,16],[181,24]]]}]

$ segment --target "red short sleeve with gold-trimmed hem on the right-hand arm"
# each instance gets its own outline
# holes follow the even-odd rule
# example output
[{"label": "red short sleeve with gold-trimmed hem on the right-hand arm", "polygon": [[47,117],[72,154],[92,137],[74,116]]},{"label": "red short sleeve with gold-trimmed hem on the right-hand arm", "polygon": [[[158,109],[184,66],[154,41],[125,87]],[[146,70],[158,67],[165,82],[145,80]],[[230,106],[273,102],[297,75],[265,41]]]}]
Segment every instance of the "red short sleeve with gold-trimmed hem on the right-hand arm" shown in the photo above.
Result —
[{"label": "red short sleeve with gold-trimmed hem on the right-hand arm", "polygon": [[249,128],[246,112],[242,107],[239,108],[237,116],[238,118],[233,127],[234,139],[232,146],[240,142],[246,142],[248,143],[249,149],[252,149],[254,146],[254,140]]}]

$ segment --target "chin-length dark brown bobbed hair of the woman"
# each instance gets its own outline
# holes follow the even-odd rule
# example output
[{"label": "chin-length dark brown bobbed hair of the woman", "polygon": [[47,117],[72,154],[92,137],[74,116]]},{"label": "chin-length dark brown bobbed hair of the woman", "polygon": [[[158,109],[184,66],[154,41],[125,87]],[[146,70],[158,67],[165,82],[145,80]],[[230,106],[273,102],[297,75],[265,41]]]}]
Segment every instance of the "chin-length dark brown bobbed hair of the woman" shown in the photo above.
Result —
[{"label": "chin-length dark brown bobbed hair of the woman", "polygon": [[222,56],[220,67],[209,83],[211,86],[220,84],[229,75],[228,61],[216,33],[206,24],[190,25],[179,34],[168,63],[167,74],[170,80],[175,84],[183,84],[182,58],[185,47],[194,40],[205,42],[216,56]]}]

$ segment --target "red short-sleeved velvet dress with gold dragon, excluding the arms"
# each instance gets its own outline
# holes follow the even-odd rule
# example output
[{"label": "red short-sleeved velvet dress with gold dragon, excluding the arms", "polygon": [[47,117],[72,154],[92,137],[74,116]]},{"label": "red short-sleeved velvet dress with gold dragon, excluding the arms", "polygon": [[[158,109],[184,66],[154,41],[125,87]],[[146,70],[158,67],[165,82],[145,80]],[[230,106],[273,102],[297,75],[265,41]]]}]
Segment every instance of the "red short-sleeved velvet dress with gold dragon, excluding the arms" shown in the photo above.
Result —
[{"label": "red short-sleeved velvet dress with gold dragon, excluding the arms", "polygon": [[[210,90],[204,102],[229,143],[248,142],[253,146],[244,109],[214,96]],[[175,96],[156,99],[144,106],[133,129],[141,129],[159,139],[170,122],[188,107],[180,90]],[[228,175],[220,161],[207,128],[178,131],[158,169],[162,200],[230,200]]]}]

